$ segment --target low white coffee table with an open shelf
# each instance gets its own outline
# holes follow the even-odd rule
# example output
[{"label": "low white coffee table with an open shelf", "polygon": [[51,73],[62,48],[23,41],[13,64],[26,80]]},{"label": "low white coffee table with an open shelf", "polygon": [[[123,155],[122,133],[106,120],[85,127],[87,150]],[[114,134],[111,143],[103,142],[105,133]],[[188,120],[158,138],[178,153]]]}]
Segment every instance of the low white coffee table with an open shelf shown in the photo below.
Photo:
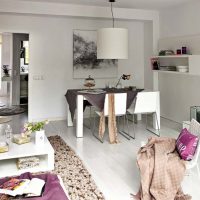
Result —
[{"label": "low white coffee table with an open shelf", "polygon": [[[29,169],[19,170],[17,168],[17,158],[27,156],[38,156],[40,165]],[[5,176],[19,175],[24,172],[42,172],[54,169],[54,149],[49,140],[45,137],[43,146],[35,145],[35,138],[26,144],[15,144],[10,142],[9,151],[0,153],[0,178]]]}]

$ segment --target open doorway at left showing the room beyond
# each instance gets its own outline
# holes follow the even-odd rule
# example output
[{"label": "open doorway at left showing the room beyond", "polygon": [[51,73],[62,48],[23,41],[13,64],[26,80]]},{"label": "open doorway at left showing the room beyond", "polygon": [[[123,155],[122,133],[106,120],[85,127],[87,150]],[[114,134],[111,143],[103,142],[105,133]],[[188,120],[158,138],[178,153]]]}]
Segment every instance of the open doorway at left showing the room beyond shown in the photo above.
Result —
[{"label": "open doorway at left showing the room beyond", "polygon": [[[7,109],[7,116],[27,119],[29,34],[0,33],[0,66],[0,111]],[[19,108],[26,112],[20,115]]]}]

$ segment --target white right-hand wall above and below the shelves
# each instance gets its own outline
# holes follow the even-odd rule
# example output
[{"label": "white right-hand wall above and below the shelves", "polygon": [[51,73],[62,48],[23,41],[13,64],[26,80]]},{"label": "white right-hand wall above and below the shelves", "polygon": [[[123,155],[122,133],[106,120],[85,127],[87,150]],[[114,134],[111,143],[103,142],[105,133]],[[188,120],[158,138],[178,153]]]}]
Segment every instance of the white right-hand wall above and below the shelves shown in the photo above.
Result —
[{"label": "white right-hand wall above and below the shelves", "polygon": [[[166,9],[160,12],[160,37],[166,48],[180,48],[187,45],[192,53],[200,52],[200,2],[193,1],[183,6]],[[190,35],[190,36],[186,36]],[[194,35],[194,36],[191,36]],[[176,36],[172,40],[166,37]],[[183,37],[186,36],[186,37]],[[166,38],[166,39],[165,39]],[[195,42],[196,41],[196,42]],[[177,122],[189,120],[190,106],[200,105],[200,76],[159,75],[161,91],[161,115]]]}]

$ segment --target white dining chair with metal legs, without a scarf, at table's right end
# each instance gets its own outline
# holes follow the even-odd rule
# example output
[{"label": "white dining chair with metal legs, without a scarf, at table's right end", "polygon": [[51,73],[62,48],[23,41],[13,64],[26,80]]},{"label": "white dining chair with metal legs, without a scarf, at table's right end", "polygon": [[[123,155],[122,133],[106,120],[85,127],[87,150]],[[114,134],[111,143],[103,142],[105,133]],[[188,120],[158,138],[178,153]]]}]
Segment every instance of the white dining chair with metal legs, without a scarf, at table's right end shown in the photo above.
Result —
[{"label": "white dining chair with metal legs, without a scarf, at table's right end", "polygon": [[[146,129],[154,134],[156,134],[154,131],[148,128],[148,114],[153,114],[156,118],[156,123],[158,130],[160,129],[159,123],[158,123],[158,117],[157,116],[157,106],[159,104],[158,102],[158,97],[159,97],[159,92],[154,91],[154,92],[138,92],[136,96],[136,102],[135,102],[135,107],[134,108],[129,108],[127,112],[131,115],[135,114],[146,114]],[[135,135],[135,131],[134,131]],[[157,135],[157,134],[156,134]],[[158,135],[160,136],[160,132],[158,131]]]}]

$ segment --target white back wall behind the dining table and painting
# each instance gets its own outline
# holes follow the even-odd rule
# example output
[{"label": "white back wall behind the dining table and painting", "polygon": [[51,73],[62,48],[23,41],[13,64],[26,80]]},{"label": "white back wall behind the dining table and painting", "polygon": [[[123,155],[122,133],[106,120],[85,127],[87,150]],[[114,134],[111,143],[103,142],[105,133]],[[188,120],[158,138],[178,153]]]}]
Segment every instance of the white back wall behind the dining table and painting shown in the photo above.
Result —
[{"label": "white back wall behind the dining table and painting", "polygon": [[[30,34],[29,119],[65,118],[65,93],[69,88],[83,87],[84,80],[73,79],[73,29],[94,30],[109,27],[110,20],[79,19],[50,16],[0,15],[1,32]],[[131,73],[128,85],[144,87],[144,24],[117,21],[116,26],[129,29],[129,59],[119,61],[120,76]],[[44,80],[33,80],[43,75]],[[116,79],[96,80],[97,87]]]}]

